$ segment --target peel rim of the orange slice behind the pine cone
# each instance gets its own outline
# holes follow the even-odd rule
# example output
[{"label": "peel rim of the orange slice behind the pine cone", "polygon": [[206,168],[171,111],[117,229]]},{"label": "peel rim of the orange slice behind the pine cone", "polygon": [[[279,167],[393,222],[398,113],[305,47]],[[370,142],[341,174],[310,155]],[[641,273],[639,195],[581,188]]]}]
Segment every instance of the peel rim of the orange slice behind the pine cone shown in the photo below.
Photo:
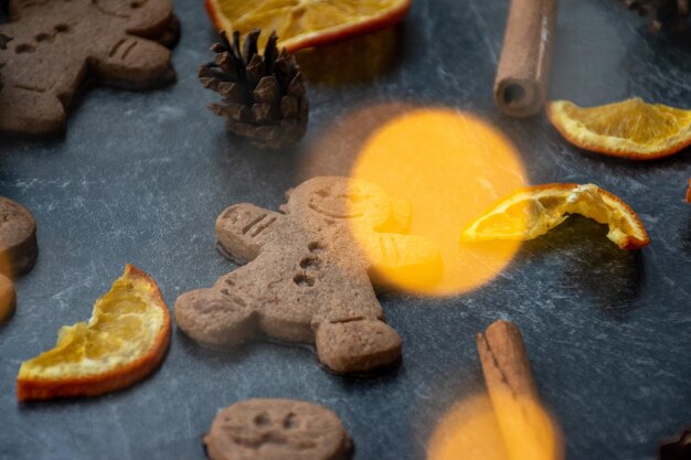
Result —
[{"label": "peel rim of the orange slice behind the pine cone", "polygon": [[[227,1],[227,0],[226,0]],[[219,31],[225,31],[227,36],[232,36],[234,28],[233,20],[223,13],[223,8],[219,0],[204,0],[204,7],[212,23]],[[309,0],[299,0],[297,8],[309,9]],[[338,6],[339,0],[333,0],[329,4]],[[305,7],[306,6],[306,7]],[[306,47],[319,46],[327,43],[333,43],[341,40],[346,40],[362,33],[374,32],[380,29],[384,29],[400,21],[408,11],[411,7],[411,0],[389,0],[386,8],[380,9],[376,13],[362,15],[360,18],[351,19],[350,21],[333,23],[328,26],[322,26],[316,30],[306,30],[297,34],[288,34],[281,36],[280,31],[276,31],[278,34],[278,47],[285,47],[288,53],[294,53],[298,50]],[[280,14],[290,14],[281,12]],[[270,22],[256,21],[251,22],[247,26],[238,28],[240,32],[246,34],[252,29],[261,29],[265,31],[263,35],[268,36],[276,28],[272,28]],[[285,34],[284,34],[285,35]]]}]

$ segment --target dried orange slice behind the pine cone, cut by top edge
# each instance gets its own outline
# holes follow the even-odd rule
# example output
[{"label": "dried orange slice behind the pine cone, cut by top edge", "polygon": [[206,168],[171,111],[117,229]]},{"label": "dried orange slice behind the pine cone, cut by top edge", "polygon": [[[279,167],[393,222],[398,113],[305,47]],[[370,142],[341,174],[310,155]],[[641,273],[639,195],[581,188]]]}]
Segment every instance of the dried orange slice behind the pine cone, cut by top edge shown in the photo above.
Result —
[{"label": "dried orange slice behind the pine cone, cut by top edge", "polygon": [[206,11],[219,30],[228,36],[252,29],[264,47],[276,31],[278,46],[295,52],[308,46],[336,42],[393,24],[405,15],[411,0],[204,0]]}]

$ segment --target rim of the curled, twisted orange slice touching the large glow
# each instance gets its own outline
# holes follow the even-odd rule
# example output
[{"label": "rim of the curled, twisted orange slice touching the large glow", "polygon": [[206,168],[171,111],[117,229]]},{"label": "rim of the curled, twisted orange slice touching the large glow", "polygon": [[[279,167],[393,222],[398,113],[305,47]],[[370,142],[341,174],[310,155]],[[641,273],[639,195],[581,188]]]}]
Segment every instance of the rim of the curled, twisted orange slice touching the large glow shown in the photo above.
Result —
[{"label": "rim of the curled, twisted orange slice touching the large glow", "polygon": [[[535,203],[540,202],[540,199],[563,200],[562,203],[557,203],[552,210],[549,208],[550,206],[545,207],[548,213],[552,211],[552,215],[546,217],[546,222],[544,220],[539,222],[543,224],[542,228],[530,227],[530,223],[525,222],[518,231],[508,232],[503,235],[497,232],[482,233],[480,231],[481,225],[486,224],[489,218],[498,217],[501,220],[502,213],[509,206],[527,200]],[[541,206],[544,207],[542,203],[535,203],[535,206],[538,210]],[[533,239],[562,224],[571,214],[581,214],[595,220],[599,224],[608,225],[609,232],[607,237],[619,246],[620,249],[640,249],[650,243],[648,233],[640,218],[621,199],[595,184],[576,183],[550,183],[520,189],[496,202],[485,214],[466,226],[461,232],[460,239],[465,243],[492,239]],[[541,216],[540,211],[539,216]],[[627,228],[623,231],[623,226]]]}]

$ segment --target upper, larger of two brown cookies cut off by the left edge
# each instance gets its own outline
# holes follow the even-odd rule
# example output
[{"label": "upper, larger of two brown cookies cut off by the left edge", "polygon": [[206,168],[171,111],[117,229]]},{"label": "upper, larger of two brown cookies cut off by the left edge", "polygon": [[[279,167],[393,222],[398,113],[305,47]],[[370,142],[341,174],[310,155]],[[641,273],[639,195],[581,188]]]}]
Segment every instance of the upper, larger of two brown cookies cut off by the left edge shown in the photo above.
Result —
[{"label": "upper, larger of two brown cookies cut off by the left edge", "polygon": [[0,196],[0,274],[14,276],[31,270],[36,261],[36,222],[19,203]]}]

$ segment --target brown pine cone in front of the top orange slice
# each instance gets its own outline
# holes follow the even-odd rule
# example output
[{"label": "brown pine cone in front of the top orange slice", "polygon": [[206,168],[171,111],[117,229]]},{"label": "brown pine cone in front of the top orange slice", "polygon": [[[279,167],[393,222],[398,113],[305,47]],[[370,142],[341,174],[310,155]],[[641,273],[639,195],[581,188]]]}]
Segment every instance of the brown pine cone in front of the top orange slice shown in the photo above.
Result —
[{"label": "brown pine cone in front of the top orange slice", "polygon": [[309,103],[295,56],[285,49],[278,53],[276,33],[264,55],[258,54],[259,33],[254,29],[247,34],[241,53],[240,33],[233,33],[231,44],[221,32],[221,43],[211,47],[216,58],[199,69],[199,79],[224,97],[210,108],[227,118],[232,132],[256,146],[279,149],[305,136]]}]

